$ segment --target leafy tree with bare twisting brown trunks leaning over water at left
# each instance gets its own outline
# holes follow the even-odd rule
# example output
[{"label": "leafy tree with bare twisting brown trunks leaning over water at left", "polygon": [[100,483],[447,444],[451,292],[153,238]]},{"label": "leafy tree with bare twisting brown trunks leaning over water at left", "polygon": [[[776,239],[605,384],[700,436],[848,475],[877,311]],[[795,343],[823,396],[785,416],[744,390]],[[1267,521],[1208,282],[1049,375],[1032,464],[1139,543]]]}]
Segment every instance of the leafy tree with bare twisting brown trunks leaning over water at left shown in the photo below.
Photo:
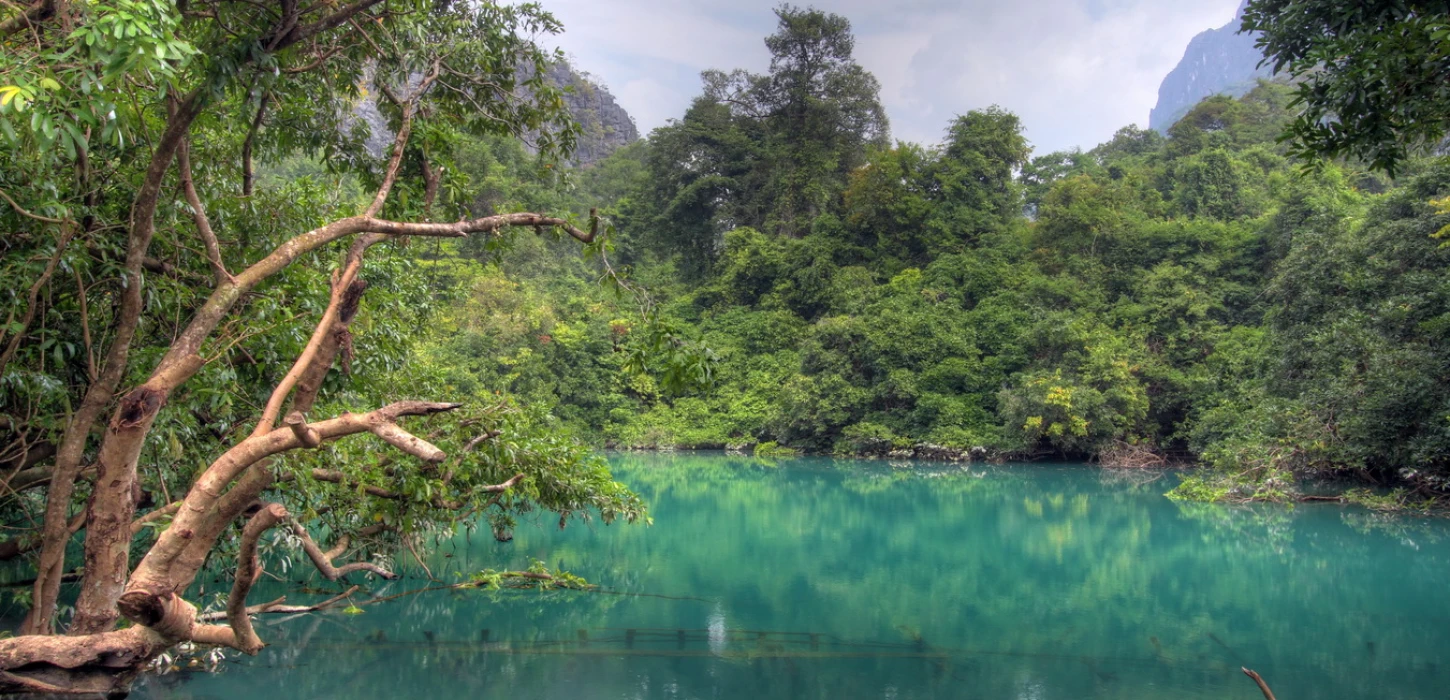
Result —
[{"label": "leafy tree with bare twisting brown trunks leaning over water at left", "polygon": [[[529,39],[558,29],[532,4],[0,10],[0,226],[14,232],[0,243],[0,510],[39,523],[0,546],[38,552],[23,636],[0,641],[0,690],[110,691],[117,659],[180,642],[255,652],[246,596],[274,526],[336,580],[390,577],[370,554],[470,513],[642,517],[536,413],[458,391],[426,358],[405,364],[447,296],[429,283],[476,278],[410,238],[523,226],[608,254],[597,219],[470,213],[519,194],[478,201],[460,175],[487,170],[458,167],[484,159],[470,139],[571,146],[541,78],[554,57]],[[377,441],[339,442],[358,433]],[[75,616],[54,636],[78,530]],[[228,625],[206,625],[181,596],[233,551]],[[334,564],[349,552],[362,561]]]}]

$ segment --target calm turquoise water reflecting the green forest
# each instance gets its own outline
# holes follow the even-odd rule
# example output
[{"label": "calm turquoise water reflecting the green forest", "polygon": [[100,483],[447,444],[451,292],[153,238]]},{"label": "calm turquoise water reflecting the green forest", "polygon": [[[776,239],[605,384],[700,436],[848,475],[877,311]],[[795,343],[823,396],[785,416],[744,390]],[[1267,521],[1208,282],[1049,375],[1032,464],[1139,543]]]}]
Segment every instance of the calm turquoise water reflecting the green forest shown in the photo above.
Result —
[{"label": "calm turquoise water reflecting the green forest", "polygon": [[1182,506],[1163,497],[1174,475],[1080,465],[613,461],[652,528],[544,517],[512,543],[460,536],[428,559],[457,580],[536,558],[609,593],[438,591],[262,617],[258,657],[138,694],[1259,699],[1246,665],[1286,700],[1450,694],[1438,520]]}]

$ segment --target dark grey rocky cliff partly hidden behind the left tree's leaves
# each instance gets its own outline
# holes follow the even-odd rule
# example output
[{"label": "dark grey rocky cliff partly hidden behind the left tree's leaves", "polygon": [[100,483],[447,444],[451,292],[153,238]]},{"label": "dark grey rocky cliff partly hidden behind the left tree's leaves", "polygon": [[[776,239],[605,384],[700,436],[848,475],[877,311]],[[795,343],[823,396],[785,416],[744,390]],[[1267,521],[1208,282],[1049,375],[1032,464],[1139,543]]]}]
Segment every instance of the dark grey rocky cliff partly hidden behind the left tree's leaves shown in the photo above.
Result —
[{"label": "dark grey rocky cliff partly hidden behind the left tree's leaves", "polygon": [[[634,117],[615,101],[615,96],[589,80],[586,74],[561,61],[550,67],[547,78],[552,86],[564,88],[564,104],[579,122],[581,133],[574,149],[576,165],[602,161],[618,148],[639,139]],[[367,125],[368,152],[381,158],[393,143],[393,132],[377,110],[377,103],[371,97],[364,99],[354,107],[352,114]]]}]

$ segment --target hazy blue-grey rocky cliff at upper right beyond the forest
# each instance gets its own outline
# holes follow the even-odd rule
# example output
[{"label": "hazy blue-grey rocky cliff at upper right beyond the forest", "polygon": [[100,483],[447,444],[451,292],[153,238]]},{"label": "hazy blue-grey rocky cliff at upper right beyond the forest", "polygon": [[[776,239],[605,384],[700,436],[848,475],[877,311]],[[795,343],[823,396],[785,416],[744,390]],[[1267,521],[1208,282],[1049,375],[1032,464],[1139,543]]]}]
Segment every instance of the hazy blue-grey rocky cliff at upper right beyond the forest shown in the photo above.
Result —
[{"label": "hazy blue-grey rocky cliff at upper right beyond the forest", "polygon": [[[1248,4],[1247,0],[1244,4]],[[1256,35],[1238,33],[1243,13],[1240,6],[1232,22],[1209,29],[1188,43],[1183,59],[1159,87],[1159,106],[1153,107],[1148,126],[1166,132],[1204,97],[1241,97],[1259,84],[1259,78],[1272,75],[1270,68],[1259,67],[1263,55],[1254,48]]]}]

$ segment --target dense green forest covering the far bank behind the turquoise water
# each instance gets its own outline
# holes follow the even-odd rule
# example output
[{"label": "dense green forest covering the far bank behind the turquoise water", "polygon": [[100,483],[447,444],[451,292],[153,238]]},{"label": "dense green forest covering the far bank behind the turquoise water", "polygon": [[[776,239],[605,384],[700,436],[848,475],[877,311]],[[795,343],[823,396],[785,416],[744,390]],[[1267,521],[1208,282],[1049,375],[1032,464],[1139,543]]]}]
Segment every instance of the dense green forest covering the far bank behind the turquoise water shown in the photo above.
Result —
[{"label": "dense green forest covering the far bank behind the turquoise water", "polygon": [[[712,390],[621,372],[629,320],[542,243],[489,268],[441,346],[624,448],[1248,475],[1196,497],[1279,497],[1305,472],[1441,484],[1441,159],[1304,170],[1276,83],[1090,151],[1034,157],[995,107],[892,142],[841,17],[783,10],[766,43],[768,74],[705,74],[682,119],[568,190],[606,204],[616,257],[713,352]],[[512,172],[510,196],[558,203]]]}]

